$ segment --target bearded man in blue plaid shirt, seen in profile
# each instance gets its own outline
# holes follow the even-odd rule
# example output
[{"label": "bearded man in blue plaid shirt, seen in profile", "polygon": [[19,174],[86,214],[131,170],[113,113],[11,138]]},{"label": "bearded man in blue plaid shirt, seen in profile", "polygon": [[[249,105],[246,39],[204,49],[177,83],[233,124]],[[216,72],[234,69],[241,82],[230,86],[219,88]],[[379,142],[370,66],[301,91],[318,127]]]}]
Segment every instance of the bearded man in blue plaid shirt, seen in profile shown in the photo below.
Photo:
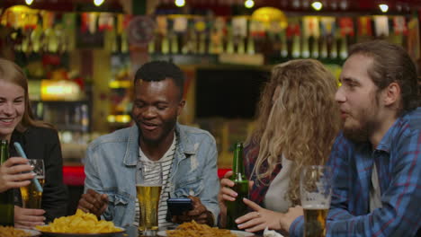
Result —
[{"label": "bearded man in blue plaid shirt, seen in profile", "polygon": [[[344,121],[327,165],[327,236],[420,236],[421,108],[416,66],[386,41],[354,45],[336,92]],[[297,217],[299,216],[299,217]],[[302,208],[282,219],[303,236]]]}]

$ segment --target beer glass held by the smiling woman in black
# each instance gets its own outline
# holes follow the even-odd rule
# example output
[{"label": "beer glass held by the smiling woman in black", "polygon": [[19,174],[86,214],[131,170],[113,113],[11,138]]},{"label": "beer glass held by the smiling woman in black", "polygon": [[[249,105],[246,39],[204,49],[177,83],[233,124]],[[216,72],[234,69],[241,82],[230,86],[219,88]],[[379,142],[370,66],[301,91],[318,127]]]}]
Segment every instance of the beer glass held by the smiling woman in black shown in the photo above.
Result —
[{"label": "beer glass held by the smiling woman in black", "polygon": [[[28,160],[28,163],[33,166],[33,171],[35,173],[35,179],[40,182],[40,186],[44,187],[45,183],[45,169],[43,160]],[[42,192],[37,190],[35,183],[31,181],[28,186],[21,187],[22,195],[22,207],[23,208],[32,208],[40,209],[41,208],[41,198]]]}]

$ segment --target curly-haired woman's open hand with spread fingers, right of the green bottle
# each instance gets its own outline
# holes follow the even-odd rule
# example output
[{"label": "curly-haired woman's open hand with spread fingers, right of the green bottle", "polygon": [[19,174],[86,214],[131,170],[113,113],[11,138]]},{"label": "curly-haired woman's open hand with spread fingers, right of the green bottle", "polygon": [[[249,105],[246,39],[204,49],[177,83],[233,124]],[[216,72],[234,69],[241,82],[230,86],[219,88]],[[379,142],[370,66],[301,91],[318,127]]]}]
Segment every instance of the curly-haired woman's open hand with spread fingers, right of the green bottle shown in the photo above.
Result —
[{"label": "curly-haired woman's open hand with spread fingers, right of the green bottle", "polygon": [[241,217],[238,217],[236,223],[238,229],[245,229],[246,232],[258,232],[263,231],[266,226],[270,230],[281,230],[281,220],[283,218],[282,213],[273,212],[268,209],[264,209],[262,206],[258,206],[254,202],[243,199],[246,206],[249,206],[254,212],[248,213]]}]

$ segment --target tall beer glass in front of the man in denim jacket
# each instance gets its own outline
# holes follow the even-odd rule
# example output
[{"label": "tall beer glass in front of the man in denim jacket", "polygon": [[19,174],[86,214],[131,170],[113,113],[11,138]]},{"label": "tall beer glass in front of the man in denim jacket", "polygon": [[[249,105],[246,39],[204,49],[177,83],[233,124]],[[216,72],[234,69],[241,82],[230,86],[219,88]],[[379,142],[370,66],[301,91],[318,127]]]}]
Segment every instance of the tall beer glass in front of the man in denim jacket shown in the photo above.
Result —
[{"label": "tall beer glass in front of the man in denim jacket", "polygon": [[161,162],[140,161],[136,175],[136,191],[139,201],[139,231],[154,236],[158,230],[158,205],[162,190]]}]

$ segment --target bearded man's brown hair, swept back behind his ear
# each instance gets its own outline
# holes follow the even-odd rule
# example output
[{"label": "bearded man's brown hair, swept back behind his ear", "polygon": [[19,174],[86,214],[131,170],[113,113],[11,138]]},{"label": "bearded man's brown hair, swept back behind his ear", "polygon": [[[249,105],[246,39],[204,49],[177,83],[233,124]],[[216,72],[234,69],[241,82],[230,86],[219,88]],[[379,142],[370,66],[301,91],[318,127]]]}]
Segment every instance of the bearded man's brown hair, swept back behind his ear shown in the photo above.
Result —
[{"label": "bearded man's brown hair, swept back behind his ear", "polygon": [[354,54],[372,57],[373,63],[367,73],[380,90],[390,83],[399,84],[402,101],[398,114],[420,105],[417,68],[404,48],[385,40],[372,40],[355,44],[349,51],[349,57]]}]

